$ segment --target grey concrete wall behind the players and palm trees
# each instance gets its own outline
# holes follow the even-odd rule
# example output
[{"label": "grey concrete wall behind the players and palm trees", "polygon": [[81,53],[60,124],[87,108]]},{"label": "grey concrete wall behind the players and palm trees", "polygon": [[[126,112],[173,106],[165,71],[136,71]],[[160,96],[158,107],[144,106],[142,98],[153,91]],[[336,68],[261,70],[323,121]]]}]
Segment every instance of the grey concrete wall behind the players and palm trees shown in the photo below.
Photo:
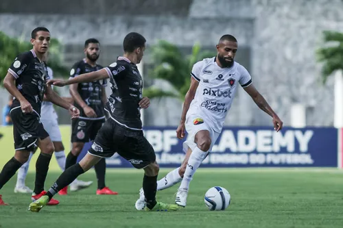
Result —
[{"label": "grey concrete wall behind the players and palm trees", "polygon": [[[138,14],[128,14],[130,10],[123,9],[131,6],[124,2],[131,1],[117,2],[120,3],[115,14],[102,11],[100,6],[94,12],[88,12],[85,5],[81,12],[72,13],[70,9],[75,9],[76,3],[68,3],[68,9],[61,8],[58,12],[53,11],[54,7],[47,10],[54,14],[41,14],[41,10],[32,14],[32,11],[25,11],[24,8],[13,14],[10,13],[13,9],[8,5],[4,8],[5,3],[2,2],[0,29],[10,36],[24,34],[28,39],[33,27],[49,27],[52,36],[66,45],[64,55],[67,66],[82,58],[82,43],[89,37],[101,40],[103,52],[100,62],[105,65],[120,55],[121,42],[129,31],[144,34],[148,47],[158,39],[165,39],[185,50],[190,49],[196,41],[200,41],[207,49],[214,48],[222,34],[233,34],[239,41],[237,61],[250,70],[255,85],[283,118],[285,125],[289,125],[290,121],[289,108],[296,102],[307,105],[307,125],[333,124],[333,80],[329,79],[326,86],[320,84],[320,64],[316,63],[315,50],[320,45],[322,30],[343,31],[342,1],[140,1],[159,5],[156,9],[162,10],[174,2],[176,5],[169,5],[165,14],[147,6],[145,10],[137,10]],[[51,2],[45,3],[49,5]],[[54,4],[56,6],[58,3]],[[101,4],[106,5],[106,0],[99,1]],[[148,50],[145,62],[151,64]],[[145,79],[148,80],[148,75],[145,75]],[[167,99],[160,103],[153,101],[152,104],[145,115],[145,124],[178,124],[180,101]],[[272,122],[244,90],[239,90],[226,124],[271,125]]]}]

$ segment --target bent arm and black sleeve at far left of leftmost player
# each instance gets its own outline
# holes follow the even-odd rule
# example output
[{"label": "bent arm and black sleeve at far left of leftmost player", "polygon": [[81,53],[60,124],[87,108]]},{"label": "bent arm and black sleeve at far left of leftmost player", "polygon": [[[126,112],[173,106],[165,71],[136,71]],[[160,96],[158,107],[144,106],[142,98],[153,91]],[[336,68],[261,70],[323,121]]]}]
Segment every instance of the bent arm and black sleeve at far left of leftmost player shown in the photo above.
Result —
[{"label": "bent arm and black sleeve at far left of leftmost player", "polygon": [[19,55],[14,62],[12,62],[8,73],[3,79],[3,86],[21,103],[21,110],[26,113],[33,112],[32,105],[25,99],[25,97],[16,88],[16,79],[19,78],[26,70],[29,58],[26,53]]}]

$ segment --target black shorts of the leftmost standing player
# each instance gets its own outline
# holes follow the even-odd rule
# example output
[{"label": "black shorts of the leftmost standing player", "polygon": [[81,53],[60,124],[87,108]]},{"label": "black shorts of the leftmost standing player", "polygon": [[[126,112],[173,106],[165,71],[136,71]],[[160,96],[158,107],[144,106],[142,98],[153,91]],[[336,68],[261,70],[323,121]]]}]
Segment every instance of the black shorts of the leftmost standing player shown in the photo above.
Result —
[{"label": "black shorts of the leftmost standing player", "polygon": [[32,151],[38,144],[38,138],[43,140],[49,137],[36,112],[24,114],[19,106],[12,108],[10,116],[13,122],[14,149],[16,151]]}]

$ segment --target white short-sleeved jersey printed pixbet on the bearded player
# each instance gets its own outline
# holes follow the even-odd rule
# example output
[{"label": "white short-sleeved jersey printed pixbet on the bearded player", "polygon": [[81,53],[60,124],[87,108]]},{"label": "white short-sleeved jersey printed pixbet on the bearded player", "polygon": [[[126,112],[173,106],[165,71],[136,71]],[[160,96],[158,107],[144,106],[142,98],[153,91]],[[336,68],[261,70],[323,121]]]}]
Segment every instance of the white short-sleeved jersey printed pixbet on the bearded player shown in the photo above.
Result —
[{"label": "white short-sleeved jersey printed pixbet on the bearded player", "polygon": [[250,86],[250,74],[238,62],[230,68],[221,68],[214,57],[194,64],[191,76],[199,81],[199,86],[187,116],[198,115],[220,133],[238,84],[243,88]]}]

